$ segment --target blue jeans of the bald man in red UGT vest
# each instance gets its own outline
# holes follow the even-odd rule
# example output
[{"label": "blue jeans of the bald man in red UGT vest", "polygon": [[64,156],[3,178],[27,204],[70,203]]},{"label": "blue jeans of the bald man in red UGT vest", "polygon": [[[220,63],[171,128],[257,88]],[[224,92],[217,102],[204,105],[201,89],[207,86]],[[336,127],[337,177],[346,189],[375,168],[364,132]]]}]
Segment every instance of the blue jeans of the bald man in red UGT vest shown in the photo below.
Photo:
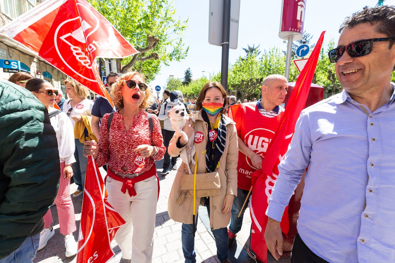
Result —
[{"label": "blue jeans of the bald man in red UGT vest", "polygon": [[[231,231],[233,234],[237,234],[241,230],[241,225],[243,224],[244,212],[248,207],[248,203],[250,203],[251,196],[248,198],[240,217],[239,217],[239,213],[241,211],[241,207],[243,207],[243,203],[246,200],[247,195],[248,195],[248,190],[244,190],[237,187],[237,197],[233,199],[233,205],[230,214],[230,225],[229,225],[229,231]],[[250,242],[248,244],[248,248],[250,248],[251,250],[251,229],[250,229]]]}]

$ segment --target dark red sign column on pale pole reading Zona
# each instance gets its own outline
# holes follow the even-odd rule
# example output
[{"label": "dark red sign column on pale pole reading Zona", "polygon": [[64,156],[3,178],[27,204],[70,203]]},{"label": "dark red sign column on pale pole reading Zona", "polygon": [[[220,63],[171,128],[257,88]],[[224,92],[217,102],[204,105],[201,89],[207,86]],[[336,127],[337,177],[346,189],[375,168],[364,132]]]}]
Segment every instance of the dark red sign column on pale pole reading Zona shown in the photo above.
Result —
[{"label": "dark red sign column on pale pole reading Zona", "polygon": [[278,37],[288,40],[285,77],[290,77],[292,41],[302,40],[307,0],[282,0]]}]

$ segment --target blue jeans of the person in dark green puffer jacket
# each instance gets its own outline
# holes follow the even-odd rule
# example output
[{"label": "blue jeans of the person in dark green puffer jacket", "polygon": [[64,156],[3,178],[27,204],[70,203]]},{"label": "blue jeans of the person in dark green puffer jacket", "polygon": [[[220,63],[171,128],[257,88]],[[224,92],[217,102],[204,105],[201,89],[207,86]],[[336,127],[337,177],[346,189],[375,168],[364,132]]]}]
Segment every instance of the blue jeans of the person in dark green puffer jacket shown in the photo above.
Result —
[{"label": "blue jeans of the person in dark green puffer jacket", "polygon": [[9,254],[7,257],[0,259],[0,263],[33,262],[34,257],[36,257],[39,242],[40,233],[33,237],[27,237],[21,246],[19,246],[19,248]]}]

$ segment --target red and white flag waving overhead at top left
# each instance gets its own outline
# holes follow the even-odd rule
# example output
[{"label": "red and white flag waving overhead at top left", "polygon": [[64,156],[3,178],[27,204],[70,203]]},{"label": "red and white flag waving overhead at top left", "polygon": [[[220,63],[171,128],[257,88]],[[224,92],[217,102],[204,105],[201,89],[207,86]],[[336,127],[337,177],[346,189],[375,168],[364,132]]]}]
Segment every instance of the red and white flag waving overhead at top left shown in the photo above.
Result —
[{"label": "red and white flag waving overhead at top left", "polygon": [[138,53],[85,0],[47,0],[2,30],[64,74],[107,97],[111,104],[95,58],[124,58]]}]

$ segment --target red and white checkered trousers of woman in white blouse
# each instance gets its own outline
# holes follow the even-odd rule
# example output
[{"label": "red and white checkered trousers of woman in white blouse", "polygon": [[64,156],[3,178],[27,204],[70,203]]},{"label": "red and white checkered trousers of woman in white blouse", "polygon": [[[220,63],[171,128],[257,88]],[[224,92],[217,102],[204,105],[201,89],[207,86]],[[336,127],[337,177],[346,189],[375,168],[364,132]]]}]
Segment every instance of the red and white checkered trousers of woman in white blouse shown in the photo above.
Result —
[{"label": "red and white checkered trousers of woman in white blouse", "polygon": [[[60,182],[58,194],[55,198],[56,209],[58,209],[58,218],[60,233],[68,235],[77,230],[75,226],[74,206],[70,197],[70,179],[64,179],[63,176],[64,162],[60,163]],[[44,215],[44,228],[49,227],[53,222],[51,208]]]}]

